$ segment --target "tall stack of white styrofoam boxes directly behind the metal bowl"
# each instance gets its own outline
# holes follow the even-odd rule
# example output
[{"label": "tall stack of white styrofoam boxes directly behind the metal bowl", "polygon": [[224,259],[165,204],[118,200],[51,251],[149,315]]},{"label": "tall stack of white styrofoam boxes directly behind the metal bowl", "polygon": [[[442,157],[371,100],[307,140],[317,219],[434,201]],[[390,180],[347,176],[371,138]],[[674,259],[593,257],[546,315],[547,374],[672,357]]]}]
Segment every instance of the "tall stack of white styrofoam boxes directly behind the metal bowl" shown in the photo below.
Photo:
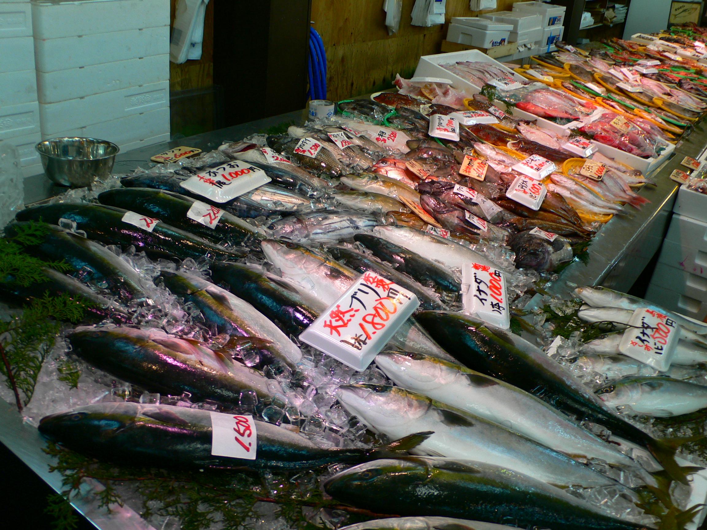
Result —
[{"label": "tall stack of white styrofoam boxes directly behind the metal bowl", "polygon": [[121,151],[170,138],[170,4],[32,2],[42,138],[86,136]]}]

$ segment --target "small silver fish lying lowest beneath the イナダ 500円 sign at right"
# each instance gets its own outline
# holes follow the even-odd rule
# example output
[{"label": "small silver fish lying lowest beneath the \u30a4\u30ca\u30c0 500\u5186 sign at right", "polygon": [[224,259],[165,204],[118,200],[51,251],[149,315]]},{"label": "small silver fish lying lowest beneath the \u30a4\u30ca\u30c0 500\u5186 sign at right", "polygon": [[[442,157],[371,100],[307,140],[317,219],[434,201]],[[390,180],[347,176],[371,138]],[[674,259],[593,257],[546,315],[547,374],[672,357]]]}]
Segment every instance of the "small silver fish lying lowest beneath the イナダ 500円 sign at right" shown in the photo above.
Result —
[{"label": "small silver fish lying lowest beneath the \u30a4\u30ca\u30c0 500\u5186 sign at right", "polygon": [[612,408],[655,418],[707,407],[707,387],[672,377],[626,377],[598,389],[597,396]]}]

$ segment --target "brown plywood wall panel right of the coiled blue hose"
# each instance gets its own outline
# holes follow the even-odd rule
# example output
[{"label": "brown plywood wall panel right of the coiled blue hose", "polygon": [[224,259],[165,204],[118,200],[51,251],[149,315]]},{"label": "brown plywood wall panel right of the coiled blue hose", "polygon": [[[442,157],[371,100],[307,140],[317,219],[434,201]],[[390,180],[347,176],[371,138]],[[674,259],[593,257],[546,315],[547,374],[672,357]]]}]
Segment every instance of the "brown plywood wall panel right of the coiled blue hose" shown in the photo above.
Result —
[{"label": "brown plywood wall panel right of the coiled blue hose", "polygon": [[[515,1],[497,0],[496,11],[510,11]],[[439,53],[447,24],[411,25],[413,5],[414,0],[403,0],[400,28],[388,35],[380,0],[312,0],[312,21],[327,52],[329,99],[390,88],[396,73],[412,75],[421,55]],[[469,10],[469,0],[447,0],[447,20],[478,15]]]}]

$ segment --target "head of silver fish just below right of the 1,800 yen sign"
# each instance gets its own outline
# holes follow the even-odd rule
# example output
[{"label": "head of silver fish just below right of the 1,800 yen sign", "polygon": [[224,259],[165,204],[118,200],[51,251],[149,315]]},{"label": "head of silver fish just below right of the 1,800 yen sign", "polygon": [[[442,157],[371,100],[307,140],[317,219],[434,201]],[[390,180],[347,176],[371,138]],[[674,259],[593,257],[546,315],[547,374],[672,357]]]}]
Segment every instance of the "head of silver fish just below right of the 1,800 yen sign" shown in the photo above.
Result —
[{"label": "head of silver fish just below right of the 1,800 yen sign", "polygon": [[382,351],[375,364],[400,387],[422,392],[449,384],[459,376],[452,363],[409,351]]}]

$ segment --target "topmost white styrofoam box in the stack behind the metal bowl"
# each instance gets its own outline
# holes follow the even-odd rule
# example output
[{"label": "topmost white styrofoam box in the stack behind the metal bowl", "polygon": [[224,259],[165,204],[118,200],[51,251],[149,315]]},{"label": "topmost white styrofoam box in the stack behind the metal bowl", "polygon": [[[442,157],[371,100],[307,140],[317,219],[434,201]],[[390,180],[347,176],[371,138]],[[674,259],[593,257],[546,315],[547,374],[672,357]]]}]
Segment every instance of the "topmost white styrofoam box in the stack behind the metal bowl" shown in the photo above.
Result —
[{"label": "topmost white styrofoam box in the stack behind the metal bowl", "polygon": [[32,2],[35,39],[57,39],[170,24],[164,0],[66,0]]}]

